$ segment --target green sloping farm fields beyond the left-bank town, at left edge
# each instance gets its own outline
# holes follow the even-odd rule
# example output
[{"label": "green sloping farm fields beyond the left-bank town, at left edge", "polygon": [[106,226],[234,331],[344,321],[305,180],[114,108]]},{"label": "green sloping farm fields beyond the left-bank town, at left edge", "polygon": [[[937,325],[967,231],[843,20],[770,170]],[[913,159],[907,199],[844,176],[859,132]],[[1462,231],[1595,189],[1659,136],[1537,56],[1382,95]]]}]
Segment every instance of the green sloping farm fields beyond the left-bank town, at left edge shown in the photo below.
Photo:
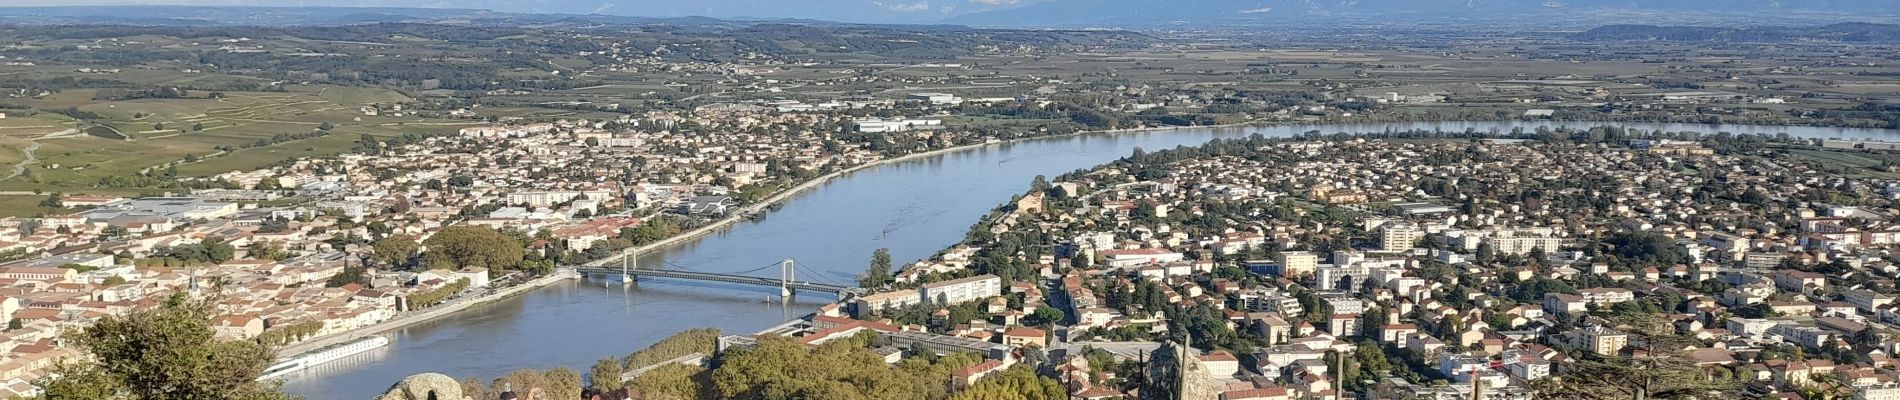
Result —
[{"label": "green sloping farm fields beyond the left-bank town, at left edge", "polygon": [[[137,174],[173,163],[179,163],[182,176],[220,174],[346,152],[361,135],[445,133],[481,123],[363,112],[408,100],[412,99],[391,89],[340,85],[186,91],[179,99],[125,100],[104,99],[99,89],[70,89],[17,99],[10,104],[44,112],[0,119],[0,163],[6,163],[6,171],[19,165],[25,161],[23,150],[32,142],[38,142],[38,163],[30,165],[30,176],[0,180],[0,190],[87,190],[104,176]],[[80,116],[65,116],[70,110]],[[319,127],[329,127],[329,135],[274,140],[279,135],[310,135]],[[188,157],[201,161],[182,163]]]}]

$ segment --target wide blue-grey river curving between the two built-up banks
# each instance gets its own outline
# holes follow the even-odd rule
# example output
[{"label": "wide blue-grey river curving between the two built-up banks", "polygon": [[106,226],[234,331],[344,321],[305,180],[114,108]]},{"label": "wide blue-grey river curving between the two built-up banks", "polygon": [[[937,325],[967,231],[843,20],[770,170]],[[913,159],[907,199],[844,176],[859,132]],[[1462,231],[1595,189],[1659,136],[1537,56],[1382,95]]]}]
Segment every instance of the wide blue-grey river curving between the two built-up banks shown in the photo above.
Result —
[{"label": "wide blue-grey river curving between the two built-up banks", "polygon": [[[840,176],[794,195],[783,209],[722,233],[640,258],[640,265],[697,271],[747,271],[785,258],[798,260],[802,281],[849,282],[872,250],[891,248],[899,264],[927,258],[958,243],[982,214],[1028,190],[1037,174],[1056,176],[1129,155],[1197,146],[1248,135],[1288,136],[1305,131],[1381,133],[1410,129],[1510,131],[1524,127],[1594,127],[1727,133],[1788,133],[1811,138],[1900,140],[1890,129],[1678,125],[1678,123],[1360,123],[1271,125],[1102,133],[1005,142],[920,157]],[[754,275],[773,277],[775,269]],[[817,277],[813,277],[817,275]],[[287,391],[312,400],[365,400],[422,372],[494,379],[519,368],[566,366],[585,373],[602,356],[625,356],[688,328],[756,332],[811,313],[828,294],[771,301],[775,288],[644,281],[631,288],[570,281],[481,305],[428,324],[388,332],[390,347],[291,375]]]}]

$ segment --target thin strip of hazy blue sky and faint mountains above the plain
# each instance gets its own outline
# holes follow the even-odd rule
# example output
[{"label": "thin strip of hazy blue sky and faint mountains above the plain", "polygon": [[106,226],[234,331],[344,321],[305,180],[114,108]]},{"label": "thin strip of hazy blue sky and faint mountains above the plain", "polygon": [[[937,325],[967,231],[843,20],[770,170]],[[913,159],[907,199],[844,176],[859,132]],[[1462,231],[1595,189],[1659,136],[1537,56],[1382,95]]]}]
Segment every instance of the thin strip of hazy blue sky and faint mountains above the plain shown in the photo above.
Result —
[{"label": "thin strip of hazy blue sky and faint mountains above the plain", "polygon": [[[1311,19],[1360,21],[1440,21],[1440,19],[1586,19],[1621,21],[1626,15],[1653,19],[1708,21],[1758,17],[1780,21],[1885,21],[1900,13],[1900,2],[1813,0],[0,0],[0,8],[66,6],[249,6],[249,8],[445,8],[498,13],[568,13],[616,17],[714,17],[714,19],[817,19],[840,23],[899,25],[1182,25],[1182,23],[1265,23]],[[146,17],[146,15],[120,15]],[[190,17],[190,15],[179,15]]]}]

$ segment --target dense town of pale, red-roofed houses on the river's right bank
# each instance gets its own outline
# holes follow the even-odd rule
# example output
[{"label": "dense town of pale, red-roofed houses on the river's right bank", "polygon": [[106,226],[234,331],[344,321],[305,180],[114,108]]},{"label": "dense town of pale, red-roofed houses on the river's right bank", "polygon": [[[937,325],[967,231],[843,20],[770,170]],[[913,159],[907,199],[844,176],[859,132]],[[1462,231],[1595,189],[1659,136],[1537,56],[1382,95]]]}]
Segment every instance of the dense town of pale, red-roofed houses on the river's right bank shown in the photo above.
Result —
[{"label": "dense town of pale, red-roofed houses on the river's right bank", "polygon": [[771,334],[982,355],[944,385],[1026,366],[1066,398],[1619,398],[1630,373],[1659,379],[1642,391],[1900,391],[1900,271],[1881,252],[1900,186],[1746,146],[1769,138],[1680,138],[1136,154],[1039,182],[971,241],[866,282],[887,290]]}]

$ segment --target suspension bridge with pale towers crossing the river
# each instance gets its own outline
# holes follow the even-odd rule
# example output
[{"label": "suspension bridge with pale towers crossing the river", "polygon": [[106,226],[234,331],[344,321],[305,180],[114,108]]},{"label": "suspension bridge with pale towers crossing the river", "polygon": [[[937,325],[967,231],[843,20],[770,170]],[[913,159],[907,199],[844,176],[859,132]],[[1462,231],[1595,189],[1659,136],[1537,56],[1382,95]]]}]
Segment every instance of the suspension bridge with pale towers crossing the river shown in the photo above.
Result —
[{"label": "suspension bridge with pale towers crossing the river", "polygon": [[[618,267],[589,264],[589,265],[576,265],[574,271],[583,277],[614,277],[619,279],[623,284],[633,284],[638,282],[640,279],[678,279],[678,281],[701,281],[701,282],[775,286],[779,288],[779,296],[787,298],[798,294],[800,290],[825,292],[825,294],[834,294],[838,298],[851,298],[864,294],[864,290],[857,288],[855,284],[830,281],[825,279],[825,275],[808,273],[806,277],[815,277],[815,279],[798,281],[798,262],[790,258],[764,267],[754,267],[747,271],[730,271],[730,273],[697,271],[678,264],[667,264],[667,269],[638,267],[636,265],[638,260],[633,254],[621,254],[619,260],[621,262]],[[779,277],[754,275],[768,269],[777,269]]]}]

